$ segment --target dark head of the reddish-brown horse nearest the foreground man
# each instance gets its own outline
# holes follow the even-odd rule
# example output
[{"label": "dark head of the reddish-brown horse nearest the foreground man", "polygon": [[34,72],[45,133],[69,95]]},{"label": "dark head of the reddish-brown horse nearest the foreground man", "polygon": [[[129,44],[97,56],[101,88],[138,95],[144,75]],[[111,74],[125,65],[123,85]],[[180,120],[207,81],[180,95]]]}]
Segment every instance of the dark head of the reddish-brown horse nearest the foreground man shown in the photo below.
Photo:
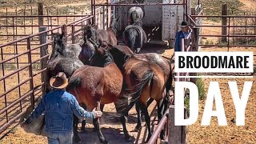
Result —
[{"label": "dark head of the reddish-brown horse nearest the foreground man", "polygon": [[97,48],[94,55],[90,58],[90,66],[104,67],[114,62],[112,54],[105,48]]}]

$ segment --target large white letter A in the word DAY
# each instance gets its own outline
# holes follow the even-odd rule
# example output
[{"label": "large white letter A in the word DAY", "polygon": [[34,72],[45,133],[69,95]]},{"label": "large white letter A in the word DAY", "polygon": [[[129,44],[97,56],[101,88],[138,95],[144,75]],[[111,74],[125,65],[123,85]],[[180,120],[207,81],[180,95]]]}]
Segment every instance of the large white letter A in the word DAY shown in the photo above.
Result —
[{"label": "large white letter A in the word DAY", "polygon": [[[216,110],[213,110],[215,99]],[[205,110],[202,114],[202,126],[210,126],[210,118],[216,116],[219,126],[226,126],[226,114],[223,107],[222,95],[219,90],[218,82],[210,82]]]}]

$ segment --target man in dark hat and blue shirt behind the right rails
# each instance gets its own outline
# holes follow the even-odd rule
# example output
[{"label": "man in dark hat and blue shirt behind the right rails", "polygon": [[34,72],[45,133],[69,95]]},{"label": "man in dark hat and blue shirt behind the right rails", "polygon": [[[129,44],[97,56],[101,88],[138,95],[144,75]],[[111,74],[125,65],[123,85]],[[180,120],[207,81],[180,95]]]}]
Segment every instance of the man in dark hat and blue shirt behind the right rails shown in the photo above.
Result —
[{"label": "man in dark hat and blue shirt behind the right rails", "polygon": [[182,30],[178,31],[175,37],[174,51],[182,51],[182,38],[186,38],[189,32],[189,24],[186,21],[182,22]]}]

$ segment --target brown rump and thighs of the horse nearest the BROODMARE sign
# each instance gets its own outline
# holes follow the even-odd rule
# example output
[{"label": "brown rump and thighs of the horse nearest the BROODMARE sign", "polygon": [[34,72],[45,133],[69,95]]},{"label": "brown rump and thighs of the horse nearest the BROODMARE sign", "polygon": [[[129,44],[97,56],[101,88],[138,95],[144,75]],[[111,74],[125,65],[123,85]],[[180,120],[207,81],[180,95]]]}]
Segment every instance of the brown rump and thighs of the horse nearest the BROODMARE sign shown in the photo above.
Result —
[{"label": "brown rump and thighs of the horse nearest the BROODMARE sign", "polygon": [[133,89],[134,86],[137,86],[142,82],[144,75],[147,72],[153,72],[154,76],[150,80],[150,83],[148,83],[142,90],[142,95],[140,97],[140,101],[142,103],[146,104],[149,98],[154,98],[157,101],[162,98],[162,92],[164,90],[166,80],[165,74],[160,66],[132,57],[126,62],[124,68],[124,78],[129,89]]}]

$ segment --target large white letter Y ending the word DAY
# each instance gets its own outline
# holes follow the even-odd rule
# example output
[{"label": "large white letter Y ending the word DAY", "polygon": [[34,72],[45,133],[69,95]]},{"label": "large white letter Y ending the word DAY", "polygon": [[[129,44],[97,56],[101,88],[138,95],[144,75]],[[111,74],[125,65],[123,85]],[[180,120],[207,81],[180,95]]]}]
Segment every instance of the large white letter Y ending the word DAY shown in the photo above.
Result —
[{"label": "large white letter Y ending the word DAY", "polygon": [[248,102],[250,89],[253,86],[253,82],[245,82],[241,98],[239,97],[237,82],[229,82],[229,86],[236,110],[236,125],[245,126],[246,104]]}]

